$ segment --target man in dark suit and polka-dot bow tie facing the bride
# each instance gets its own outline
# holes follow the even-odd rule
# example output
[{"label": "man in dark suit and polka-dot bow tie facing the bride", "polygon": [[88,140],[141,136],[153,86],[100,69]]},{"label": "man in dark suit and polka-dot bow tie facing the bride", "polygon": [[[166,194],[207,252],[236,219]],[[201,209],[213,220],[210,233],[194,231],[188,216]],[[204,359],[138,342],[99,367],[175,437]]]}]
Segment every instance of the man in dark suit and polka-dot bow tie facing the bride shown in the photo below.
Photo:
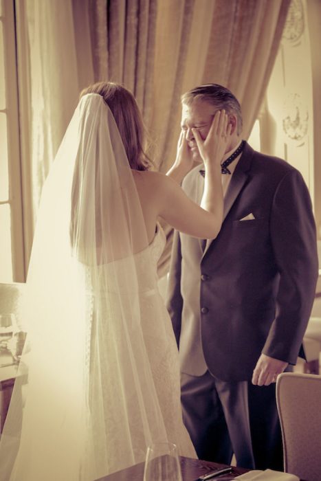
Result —
[{"label": "man in dark suit and polka-dot bow tie facing the bride", "polygon": [[[303,354],[318,276],[309,192],[298,170],[241,140],[241,108],[228,89],[197,87],[182,107],[194,160],[217,110],[231,125],[221,232],[207,241],[175,232],[168,310],[184,422],[199,458],[230,464],[234,453],[239,466],[283,471],[275,381]],[[203,175],[199,166],[184,179],[193,201]]]}]

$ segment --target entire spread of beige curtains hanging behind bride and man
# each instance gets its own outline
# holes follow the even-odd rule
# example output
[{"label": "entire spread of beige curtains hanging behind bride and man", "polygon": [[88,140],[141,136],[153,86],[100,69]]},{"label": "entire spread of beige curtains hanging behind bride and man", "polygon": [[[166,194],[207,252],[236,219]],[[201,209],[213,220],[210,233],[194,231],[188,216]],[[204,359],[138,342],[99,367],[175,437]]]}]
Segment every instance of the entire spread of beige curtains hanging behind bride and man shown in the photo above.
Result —
[{"label": "entire spread of beige curtains hanging behind bride and man", "polygon": [[[17,0],[26,259],[43,181],[82,87],[114,80],[134,93],[154,141],[155,168],[165,172],[175,158],[181,93],[195,85],[229,87],[249,135],[289,3]],[[161,274],[169,252],[170,230]]]}]

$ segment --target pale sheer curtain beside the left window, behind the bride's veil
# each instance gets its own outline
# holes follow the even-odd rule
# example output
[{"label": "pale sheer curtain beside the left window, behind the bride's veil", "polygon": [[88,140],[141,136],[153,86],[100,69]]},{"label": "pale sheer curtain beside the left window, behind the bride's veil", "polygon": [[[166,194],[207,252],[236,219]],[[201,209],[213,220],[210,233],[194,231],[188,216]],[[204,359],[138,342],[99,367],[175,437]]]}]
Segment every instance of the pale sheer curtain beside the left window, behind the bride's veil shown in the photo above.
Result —
[{"label": "pale sheer curtain beside the left window, behind the bride's veil", "polygon": [[25,271],[43,182],[79,89],[93,81],[84,6],[76,0],[16,0]]}]

